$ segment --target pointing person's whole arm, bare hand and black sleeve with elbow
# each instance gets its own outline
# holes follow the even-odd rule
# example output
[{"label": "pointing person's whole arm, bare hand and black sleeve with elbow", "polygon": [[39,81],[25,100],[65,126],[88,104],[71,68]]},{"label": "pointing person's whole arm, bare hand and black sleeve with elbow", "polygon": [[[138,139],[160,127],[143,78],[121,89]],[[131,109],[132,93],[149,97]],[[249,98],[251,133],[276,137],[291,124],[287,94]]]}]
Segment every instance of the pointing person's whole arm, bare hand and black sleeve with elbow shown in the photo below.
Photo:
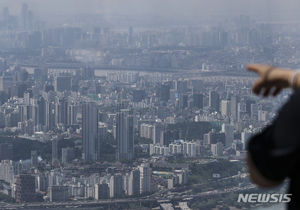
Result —
[{"label": "pointing person's whole arm, bare hand and black sleeve with elbow", "polygon": [[[293,70],[270,69],[270,66],[249,65],[248,69],[260,74],[253,85],[253,92],[278,90],[290,87],[295,75]],[[295,77],[295,86],[300,87],[300,76]],[[268,89],[269,88],[269,89]],[[267,94],[268,95],[268,94]],[[265,94],[265,96],[267,96]],[[262,188],[275,187],[289,177],[300,155],[300,89],[295,91],[280,109],[272,125],[254,135],[247,145],[247,165],[252,181]]]}]

